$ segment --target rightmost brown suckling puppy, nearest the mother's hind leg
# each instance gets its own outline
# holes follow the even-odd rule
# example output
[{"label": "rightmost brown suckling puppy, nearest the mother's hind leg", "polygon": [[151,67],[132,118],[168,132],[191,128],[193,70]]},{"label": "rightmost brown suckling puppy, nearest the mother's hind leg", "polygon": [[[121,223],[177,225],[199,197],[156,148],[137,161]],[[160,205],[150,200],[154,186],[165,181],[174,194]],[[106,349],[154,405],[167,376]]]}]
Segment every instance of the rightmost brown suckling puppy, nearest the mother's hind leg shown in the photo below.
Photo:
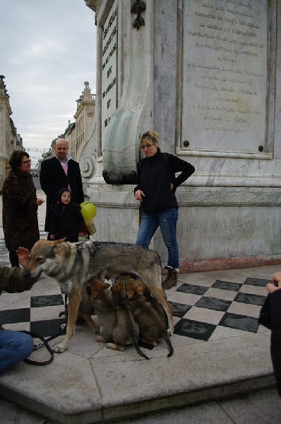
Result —
[{"label": "rightmost brown suckling puppy, nearest the mother's hind leg", "polygon": [[[169,336],[167,336],[167,323],[160,317],[153,305],[143,296],[143,288],[138,280],[131,276],[125,276],[126,293],[129,305],[133,313],[133,318],[138,324],[141,341],[157,346],[157,343],[164,338],[169,348],[168,358],[174,353]],[[164,311],[164,310],[163,310]]]}]

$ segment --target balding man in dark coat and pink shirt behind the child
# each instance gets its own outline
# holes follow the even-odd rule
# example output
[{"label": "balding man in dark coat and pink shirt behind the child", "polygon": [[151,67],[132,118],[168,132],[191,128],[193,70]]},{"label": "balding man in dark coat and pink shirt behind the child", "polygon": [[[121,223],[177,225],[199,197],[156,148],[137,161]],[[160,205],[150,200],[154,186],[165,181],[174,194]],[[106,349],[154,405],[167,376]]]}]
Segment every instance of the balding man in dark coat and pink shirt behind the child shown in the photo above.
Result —
[{"label": "balding man in dark coat and pink shirt behind the child", "polygon": [[49,232],[49,220],[52,207],[56,204],[60,189],[68,187],[71,198],[76,204],[84,201],[82,177],[78,162],[68,154],[68,143],[65,139],[56,139],[54,158],[43,160],[40,170],[40,184],[46,194],[46,219],[44,230]]}]

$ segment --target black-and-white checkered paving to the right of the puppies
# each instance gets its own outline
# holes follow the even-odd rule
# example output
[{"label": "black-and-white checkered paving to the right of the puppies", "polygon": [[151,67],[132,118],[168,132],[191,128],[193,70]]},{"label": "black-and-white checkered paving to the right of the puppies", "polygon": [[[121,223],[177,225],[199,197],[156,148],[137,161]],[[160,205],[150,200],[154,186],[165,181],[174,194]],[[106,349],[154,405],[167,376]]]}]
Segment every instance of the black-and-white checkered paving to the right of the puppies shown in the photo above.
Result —
[{"label": "black-and-white checkered paving to the right of the puppies", "polygon": [[256,333],[266,283],[268,280],[248,277],[244,283],[217,280],[210,287],[180,285],[169,296],[177,320],[175,334],[208,341],[220,333]]}]

